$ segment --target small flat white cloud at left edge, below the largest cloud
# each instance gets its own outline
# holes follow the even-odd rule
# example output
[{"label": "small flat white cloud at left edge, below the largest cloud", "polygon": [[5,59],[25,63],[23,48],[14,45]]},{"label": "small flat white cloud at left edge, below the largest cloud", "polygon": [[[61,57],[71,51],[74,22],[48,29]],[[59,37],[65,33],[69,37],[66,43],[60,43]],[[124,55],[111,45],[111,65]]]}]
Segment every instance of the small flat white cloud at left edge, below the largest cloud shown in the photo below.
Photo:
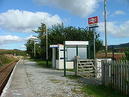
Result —
[{"label": "small flat white cloud at left edge, below the largest cloud", "polygon": [[0,45],[7,45],[12,43],[18,43],[24,41],[24,38],[18,37],[18,36],[12,36],[12,35],[5,35],[0,36]]}]

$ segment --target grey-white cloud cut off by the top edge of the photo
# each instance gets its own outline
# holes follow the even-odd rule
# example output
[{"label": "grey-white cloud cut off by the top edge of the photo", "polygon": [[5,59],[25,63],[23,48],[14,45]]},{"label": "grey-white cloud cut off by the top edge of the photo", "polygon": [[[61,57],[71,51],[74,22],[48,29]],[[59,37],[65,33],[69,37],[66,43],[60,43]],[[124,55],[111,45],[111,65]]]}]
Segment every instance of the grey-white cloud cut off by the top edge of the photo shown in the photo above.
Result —
[{"label": "grey-white cloud cut off by the top edge of the photo", "polygon": [[101,0],[35,0],[39,4],[54,6],[69,11],[72,14],[86,17],[98,8]]}]

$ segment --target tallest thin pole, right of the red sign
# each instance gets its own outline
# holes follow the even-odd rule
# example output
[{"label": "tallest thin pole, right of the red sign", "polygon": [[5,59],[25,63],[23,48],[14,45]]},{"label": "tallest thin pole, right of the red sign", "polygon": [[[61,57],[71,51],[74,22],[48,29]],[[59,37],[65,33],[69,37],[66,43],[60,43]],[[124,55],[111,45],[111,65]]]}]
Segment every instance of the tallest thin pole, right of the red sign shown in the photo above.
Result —
[{"label": "tallest thin pole, right of the red sign", "polygon": [[107,12],[106,12],[107,0],[104,0],[104,27],[105,27],[105,58],[107,58]]}]

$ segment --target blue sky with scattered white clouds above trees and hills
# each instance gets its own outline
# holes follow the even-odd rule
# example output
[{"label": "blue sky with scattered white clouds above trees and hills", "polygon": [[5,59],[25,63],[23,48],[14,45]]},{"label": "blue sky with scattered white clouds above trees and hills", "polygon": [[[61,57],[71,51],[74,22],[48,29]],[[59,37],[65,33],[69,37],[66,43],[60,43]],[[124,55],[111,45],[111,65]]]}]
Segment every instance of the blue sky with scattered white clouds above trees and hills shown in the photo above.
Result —
[{"label": "blue sky with scattered white clouds above trees and hills", "polygon": [[[108,45],[129,42],[129,0],[107,0]],[[103,0],[0,0],[0,49],[25,50],[41,23],[85,28],[98,16],[104,42]]]}]

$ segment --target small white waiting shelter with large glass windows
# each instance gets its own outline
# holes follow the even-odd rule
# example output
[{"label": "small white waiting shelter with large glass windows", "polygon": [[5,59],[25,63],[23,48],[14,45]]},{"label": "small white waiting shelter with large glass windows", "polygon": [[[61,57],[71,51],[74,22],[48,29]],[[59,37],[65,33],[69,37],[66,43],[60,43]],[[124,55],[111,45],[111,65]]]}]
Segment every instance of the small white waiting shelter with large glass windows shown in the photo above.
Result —
[{"label": "small white waiting shelter with large glass windows", "polygon": [[87,59],[88,41],[65,41],[64,44],[50,45],[52,48],[52,67],[73,69],[74,58]]}]

